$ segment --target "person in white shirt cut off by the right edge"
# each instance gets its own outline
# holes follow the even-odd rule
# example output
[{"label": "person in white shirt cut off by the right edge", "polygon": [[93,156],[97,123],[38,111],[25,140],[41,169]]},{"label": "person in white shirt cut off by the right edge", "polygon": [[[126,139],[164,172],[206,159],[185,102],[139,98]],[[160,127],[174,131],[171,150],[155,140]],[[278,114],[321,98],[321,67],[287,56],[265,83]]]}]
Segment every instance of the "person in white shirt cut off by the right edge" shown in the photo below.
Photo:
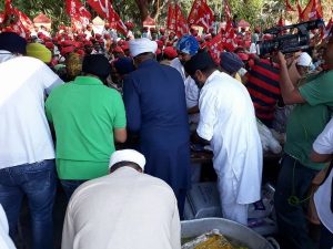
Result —
[{"label": "person in white shirt cut off by the right edge", "polygon": [[[313,143],[311,159],[316,163],[330,162],[333,155],[333,118]],[[322,222],[320,249],[333,248],[333,169],[332,163],[326,179],[314,194],[316,212]]]}]

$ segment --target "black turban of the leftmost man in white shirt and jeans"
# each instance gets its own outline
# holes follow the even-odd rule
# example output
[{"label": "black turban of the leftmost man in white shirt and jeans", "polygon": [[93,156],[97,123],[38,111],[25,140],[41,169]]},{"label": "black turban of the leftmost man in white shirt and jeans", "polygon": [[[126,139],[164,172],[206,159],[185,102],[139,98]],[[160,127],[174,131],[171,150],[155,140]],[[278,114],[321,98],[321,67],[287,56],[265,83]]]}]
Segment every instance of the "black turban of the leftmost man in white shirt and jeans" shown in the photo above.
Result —
[{"label": "black turban of the leftmost man in white shirt and jeans", "polygon": [[27,41],[14,32],[0,33],[0,50],[7,50],[11,53],[26,54]]}]

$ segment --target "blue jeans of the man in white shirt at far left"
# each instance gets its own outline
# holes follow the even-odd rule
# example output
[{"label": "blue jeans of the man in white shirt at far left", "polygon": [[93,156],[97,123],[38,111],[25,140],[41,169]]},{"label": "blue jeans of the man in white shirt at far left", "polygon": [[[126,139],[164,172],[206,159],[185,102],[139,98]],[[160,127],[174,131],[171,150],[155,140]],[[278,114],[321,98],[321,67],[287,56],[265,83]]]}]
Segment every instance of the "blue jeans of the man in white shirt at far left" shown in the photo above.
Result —
[{"label": "blue jeans of the man in white shirt at far left", "polygon": [[0,203],[10,235],[16,232],[21,203],[28,197],[31,214],[32,248],[53,248],[53,204],[57,187],[54,160],[42,160],[0,169]]}]

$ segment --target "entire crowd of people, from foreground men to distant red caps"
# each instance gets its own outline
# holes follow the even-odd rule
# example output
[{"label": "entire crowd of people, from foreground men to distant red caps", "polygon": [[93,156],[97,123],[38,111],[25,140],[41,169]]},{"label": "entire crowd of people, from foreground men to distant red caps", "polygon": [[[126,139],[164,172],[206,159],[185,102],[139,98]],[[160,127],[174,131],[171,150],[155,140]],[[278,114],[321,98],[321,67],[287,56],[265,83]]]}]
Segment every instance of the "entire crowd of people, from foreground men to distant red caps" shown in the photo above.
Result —
[{"label": "entire crowd of people, from foreground men to distant red caps", "polygon": [[59,179],[63,249],[181,248],[192,143],[212,148],[223,218],[246,226],[261,199],[261,122],[286,137],[274,197],[283,248],[315,248],[304,207],[319,173],[320,248],[332,248],[333,38],[259,55],[260,29],[236,29],[216,63],[213,31],[127,27],[123,39],[109,24],[0,33],[0,245],[14,248],[7,234],[27,196],[32,248],[53,248]]}]

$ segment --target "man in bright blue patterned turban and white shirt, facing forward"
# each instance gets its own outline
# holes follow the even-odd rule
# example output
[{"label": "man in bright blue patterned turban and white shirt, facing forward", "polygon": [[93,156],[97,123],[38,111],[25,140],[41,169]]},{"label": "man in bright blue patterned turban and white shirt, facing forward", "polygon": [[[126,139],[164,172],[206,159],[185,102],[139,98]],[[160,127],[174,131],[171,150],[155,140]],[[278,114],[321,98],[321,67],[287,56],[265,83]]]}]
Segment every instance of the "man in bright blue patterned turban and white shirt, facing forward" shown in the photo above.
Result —
[{"label": "man in bright blue patterned turban and white shirt, facing forward", "polygon": [[184,64],[198,53],[200,45],[193,35],[185,34],[176,43],[178,58],[173,59],[170,66],[176,69],[185,85],[186,107],[190,123],[199,123],[199,89],[193,79],[186,75]]}]

